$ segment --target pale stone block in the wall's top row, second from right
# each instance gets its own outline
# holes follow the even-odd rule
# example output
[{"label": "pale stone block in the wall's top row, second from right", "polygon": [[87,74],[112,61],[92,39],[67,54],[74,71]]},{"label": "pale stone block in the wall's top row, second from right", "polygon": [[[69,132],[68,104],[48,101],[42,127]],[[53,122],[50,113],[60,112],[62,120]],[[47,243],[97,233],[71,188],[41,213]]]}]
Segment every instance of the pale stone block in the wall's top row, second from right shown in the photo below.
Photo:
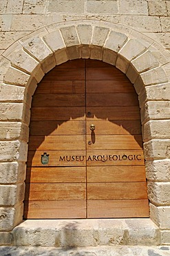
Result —
[{"label": "pale stone block in the wall's top row, second from right", "polygon": [[120,13],[123,15],[148,15],[147,1],[120,1]]}]

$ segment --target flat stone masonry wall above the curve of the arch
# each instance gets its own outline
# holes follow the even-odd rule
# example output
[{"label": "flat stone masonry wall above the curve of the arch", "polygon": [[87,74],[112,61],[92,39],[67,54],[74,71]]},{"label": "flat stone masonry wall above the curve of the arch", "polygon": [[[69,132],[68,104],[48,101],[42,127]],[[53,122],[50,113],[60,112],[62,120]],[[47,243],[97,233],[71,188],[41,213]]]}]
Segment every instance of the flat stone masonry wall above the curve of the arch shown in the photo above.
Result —
[{"label": "flat stone masonry wall above the curve of the arch", "polygon": [[170,48],[170,1],[0,0],[0,13],[1,52],[47,24],[76,19],[124,24]]}]

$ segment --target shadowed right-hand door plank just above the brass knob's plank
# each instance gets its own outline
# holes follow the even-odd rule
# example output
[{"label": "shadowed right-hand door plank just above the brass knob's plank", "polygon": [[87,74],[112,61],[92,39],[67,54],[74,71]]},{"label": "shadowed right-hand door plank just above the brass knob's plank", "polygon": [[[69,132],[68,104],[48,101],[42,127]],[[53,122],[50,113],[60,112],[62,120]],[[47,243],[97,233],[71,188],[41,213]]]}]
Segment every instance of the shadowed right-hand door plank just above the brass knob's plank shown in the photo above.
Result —
[{"label": "shadowed right-hand door plank just above the brass knob's plank", "polygon": [[87,107],[87,120],[139,120],[138,107]]}]

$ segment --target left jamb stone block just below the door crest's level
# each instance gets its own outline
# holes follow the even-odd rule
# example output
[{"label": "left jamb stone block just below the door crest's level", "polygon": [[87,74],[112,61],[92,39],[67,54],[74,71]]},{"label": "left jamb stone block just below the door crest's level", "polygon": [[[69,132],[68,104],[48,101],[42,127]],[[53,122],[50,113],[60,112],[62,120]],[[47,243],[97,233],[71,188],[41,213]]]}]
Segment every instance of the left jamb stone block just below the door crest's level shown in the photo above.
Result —
[{"label": "left jamb stone block just below the door crest's level", "polygon": [[23,162],[0,163],[0,183],[17,183],[24,181],[26,165]]}]

